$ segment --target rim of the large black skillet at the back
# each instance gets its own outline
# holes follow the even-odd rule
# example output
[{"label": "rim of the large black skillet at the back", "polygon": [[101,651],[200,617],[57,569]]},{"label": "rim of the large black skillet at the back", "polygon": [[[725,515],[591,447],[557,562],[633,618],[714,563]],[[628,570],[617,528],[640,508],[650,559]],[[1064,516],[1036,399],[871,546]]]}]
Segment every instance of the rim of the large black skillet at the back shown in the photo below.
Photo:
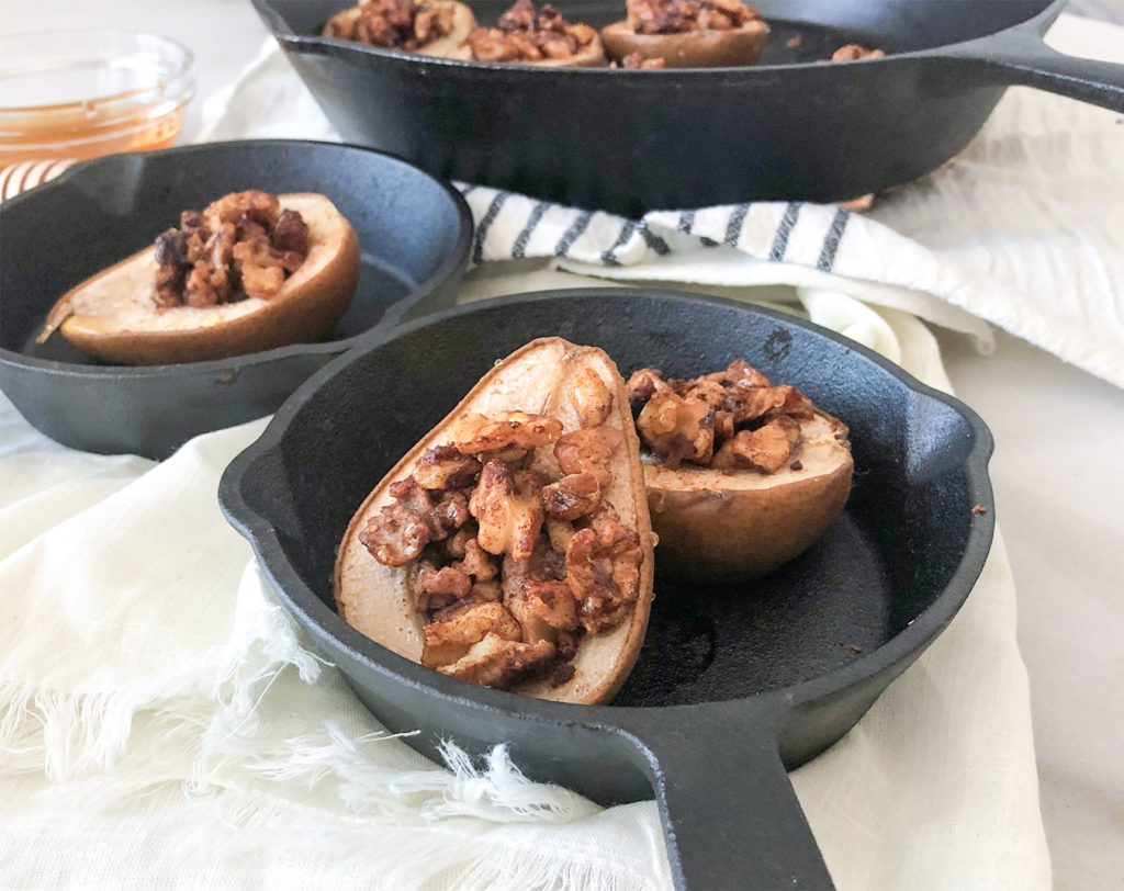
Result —
[{"label": "rim of the large black skillet at the back", "polygon": [[[293,48],[302,53],[314,53],[317,55],[338,55],[343,53],[359,53],[362,55],[397,60],[397,61],[411,61],[422,62],[425,65],[435,65],[438,67],[448,69],[468,69],[472,71],[498,71],[498,72],[535,72],[531,76],[549,76],[561,75],[564,78],[597,78],[604,76],[606,73],[611,73],[613,76],[619,78],[669,78],[672,75],[689,76],[689,78],[706,78],[711,75],[725,75],[731,76],[733,74],[742,74],[745,76],[752,76],[753,72],[776,72],[785,70],[807,70],[807,69],[818,69],[822,67],[818,62],[794,62],[783,65],[726,65],[722,67],[713,69],[611,69],[611,67],[551,67],[543,65],[527,65],[519,62],[473,62],[463,58],[448,58],[446,56],[427,56],[419,53],[407,53],[400,49],[391,49],[381,46],[368,46],[365,44],[360,44],[351,40],[343,40],[335,37],[321,37],[320,35],[310,34],[298,34],[288,27],[288,22],[284,21],[284,17],[280,13],[273,4],[273,0],[251,0],[254,8],[257,10],[259,15],[266,22],[270,31],[273,34],[274,38],[281,43],[287,48]],[[471,2],[471,0],[465,0],[465,2]],[[927,58],[932,56],[939,56],[944,52],[948,52],[952,47],[961,47],[968,44],[976,43],[977,40],[991,39],[996,35],[1004,34],[1006,31],[1015,30],[1017,28],[1034,27],[1040,33],[1045,31],[1046,28],[1053,22],[1055,18],[1064,9],[1069,0],[1053,0],[1044,9],[1028,16],[1027,18],[1010,25],[1006,28],[1001,28],[998,31],[992,31],[990,34],[981,34],[977,37],[970,37],[967,40],[958,40],[951,44],[940,44],[937,46],[928,47],[926,49],[910,49],[906,53],[891,53],[886,56],[878,58],[860,58],[850,60],[845,62],[833,62],[832,65],[858,65],[858,64],[876,64],[885,65],[892,63],[897,58]],[[263,15],[264,12],[264,15]],[[277,21],[284,22],[284,29],[274,26]],[[768,24],[768,19],[765,20]]]}]

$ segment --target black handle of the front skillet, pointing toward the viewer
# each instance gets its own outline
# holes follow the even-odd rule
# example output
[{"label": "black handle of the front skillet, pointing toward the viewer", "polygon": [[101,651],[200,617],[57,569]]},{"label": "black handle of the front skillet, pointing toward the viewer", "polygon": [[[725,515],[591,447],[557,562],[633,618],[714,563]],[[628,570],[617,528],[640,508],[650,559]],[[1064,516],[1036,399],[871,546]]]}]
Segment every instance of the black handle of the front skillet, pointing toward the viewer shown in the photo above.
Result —
[{"label": "black handle of the front skillet, pointing toward the viewer", "polygon": [[833,889],[780,760],[776,710],[732,704],[690,709],[674,729],[629,722],[677,888]]}]

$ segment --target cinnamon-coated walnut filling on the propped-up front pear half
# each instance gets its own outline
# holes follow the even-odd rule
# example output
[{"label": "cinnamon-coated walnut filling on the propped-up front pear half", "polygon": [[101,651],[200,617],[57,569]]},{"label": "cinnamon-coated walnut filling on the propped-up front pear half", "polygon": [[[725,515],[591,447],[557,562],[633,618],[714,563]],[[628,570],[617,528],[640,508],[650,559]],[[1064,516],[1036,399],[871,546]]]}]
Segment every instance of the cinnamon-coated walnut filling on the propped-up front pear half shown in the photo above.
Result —
[{"label": "cinnamon-coated walnut filling on the propped-up front pear half", "polygon": [[572,401],[583,426],[569,434],[522,411],[459,419],[360,533],[374,560],[413,573],[423,665],[498,689],[560,685],[582,642],[634,607],[640,537],[606,497],[626,466],[620,430],[601,426],[613,394],[590,372]]}]

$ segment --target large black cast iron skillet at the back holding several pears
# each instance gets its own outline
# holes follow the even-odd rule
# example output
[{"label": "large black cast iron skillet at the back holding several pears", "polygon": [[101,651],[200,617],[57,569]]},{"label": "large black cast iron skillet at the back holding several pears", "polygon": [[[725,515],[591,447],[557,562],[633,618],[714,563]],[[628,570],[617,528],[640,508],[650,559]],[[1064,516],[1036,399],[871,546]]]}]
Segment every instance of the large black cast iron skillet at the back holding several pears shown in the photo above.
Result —
[{"label": "large black cast iron skillet at the back holding several pears", "polygon": [[[1064,0],[755,0],[772,27],[762,64],[692,71],[428,58],[317,36],[347,0],[253,1],[345,138],[629,216],[881,191],[960,152],[1008,84],[1124,110],[1124,66],[1042,43]],[[469,2],[482,24],[510,6]],[[625,9],[558,6],[591,25]],[[816,64],[852,42],[889,56]]]}]

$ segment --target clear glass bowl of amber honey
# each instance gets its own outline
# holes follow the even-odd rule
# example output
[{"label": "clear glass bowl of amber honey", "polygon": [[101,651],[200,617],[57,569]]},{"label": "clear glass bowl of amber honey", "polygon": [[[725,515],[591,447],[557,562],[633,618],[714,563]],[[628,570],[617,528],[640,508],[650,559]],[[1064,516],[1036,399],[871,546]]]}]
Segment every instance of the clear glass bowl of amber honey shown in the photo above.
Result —
[{"label": "clear glass bowl of amber honey", "polygon": [[194,94],[191,52],[155,34],[0,37],[0,169],[166,148]]}]

